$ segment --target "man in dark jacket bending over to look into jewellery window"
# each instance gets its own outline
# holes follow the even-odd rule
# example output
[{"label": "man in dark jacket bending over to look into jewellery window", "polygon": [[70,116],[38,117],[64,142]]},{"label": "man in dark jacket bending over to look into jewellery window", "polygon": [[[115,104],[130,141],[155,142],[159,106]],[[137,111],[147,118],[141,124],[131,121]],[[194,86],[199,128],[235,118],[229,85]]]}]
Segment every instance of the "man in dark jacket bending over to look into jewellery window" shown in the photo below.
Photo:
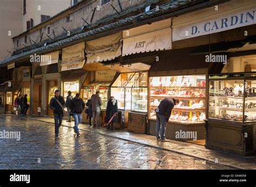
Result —
[{"label": "man in dark jacket bending over to look into jewellery window", "polygon": [[[161,100],[160,104],[156,109],[157,124],[156,124],[156,136],[157,141],[165,142],[165,127],[166,123],[169,121],[172,109],[174,105],[179,104],[179,99],[174,99],[170,97],[165,97]],[[159,136],[160,131],[160,136]],[[160,139],[161,138],[161,139]]]}]

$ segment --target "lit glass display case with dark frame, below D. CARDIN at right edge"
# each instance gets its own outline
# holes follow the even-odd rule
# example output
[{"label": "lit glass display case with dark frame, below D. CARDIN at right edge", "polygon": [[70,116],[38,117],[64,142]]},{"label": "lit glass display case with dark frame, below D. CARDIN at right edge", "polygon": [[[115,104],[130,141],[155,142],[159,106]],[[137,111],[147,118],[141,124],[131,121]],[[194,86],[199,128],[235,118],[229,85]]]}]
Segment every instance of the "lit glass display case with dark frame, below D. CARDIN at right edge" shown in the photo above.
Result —
[{"label": "lit glass display case with dark frame, below D. CARDIN at right edge", "polygon": [[256,120],[256,73],[209,76],[208,119]]}]

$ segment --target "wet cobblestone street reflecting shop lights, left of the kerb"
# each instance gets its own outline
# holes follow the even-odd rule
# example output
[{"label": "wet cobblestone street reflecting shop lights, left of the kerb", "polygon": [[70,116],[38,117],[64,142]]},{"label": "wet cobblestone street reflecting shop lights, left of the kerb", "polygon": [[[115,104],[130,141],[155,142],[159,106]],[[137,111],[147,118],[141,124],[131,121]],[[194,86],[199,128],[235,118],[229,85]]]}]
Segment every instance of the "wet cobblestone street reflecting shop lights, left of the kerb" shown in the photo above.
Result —
[{"label": "wet cobblestone street reflecting shop lights, left of the kerb", "polygon": [[0,116],[0,132],[20,131],[21,140],[0,139],[0,169],[233,169],[90,131]]}]

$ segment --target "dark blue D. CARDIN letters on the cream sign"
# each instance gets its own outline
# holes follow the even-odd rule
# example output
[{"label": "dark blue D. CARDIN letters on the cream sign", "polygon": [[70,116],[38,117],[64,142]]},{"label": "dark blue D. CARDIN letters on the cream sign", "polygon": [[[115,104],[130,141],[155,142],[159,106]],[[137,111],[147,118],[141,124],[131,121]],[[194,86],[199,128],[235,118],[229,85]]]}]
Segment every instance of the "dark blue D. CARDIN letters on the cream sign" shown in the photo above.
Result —
[{"label": "dark blue D. CARDIN letters on the cream sign", "polygon": [[[221,28],[228,28],[232,26],[237,26],[239,24],[245,24],[245,23],[248,23],[248,21],[254,22],[255,11],[256,10],[246,12],[246,13],[241,13],[239,16],[231,16],[228,18],[214,20],[212,22],[207,22],[203,24],[203,30],[204,32],[211,32],[211,31],[219,30]],[[199,33],[200,33],[200,30],[198,26],[191,27],[191,35],[199,34]]]}]

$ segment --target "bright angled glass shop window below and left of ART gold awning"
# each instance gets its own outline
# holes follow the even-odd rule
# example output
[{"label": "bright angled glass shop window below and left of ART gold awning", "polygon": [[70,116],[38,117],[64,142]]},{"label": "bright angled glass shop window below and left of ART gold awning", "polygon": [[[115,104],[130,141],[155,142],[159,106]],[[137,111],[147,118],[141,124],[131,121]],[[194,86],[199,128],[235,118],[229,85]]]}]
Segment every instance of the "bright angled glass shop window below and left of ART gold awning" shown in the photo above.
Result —
[{"label": "bright angled glass shop window below and left of ART gold awning", "polygon": [[147,112],[147,73],[123,73],[112,84],[111,96],[118,100],[118,109]]}]

